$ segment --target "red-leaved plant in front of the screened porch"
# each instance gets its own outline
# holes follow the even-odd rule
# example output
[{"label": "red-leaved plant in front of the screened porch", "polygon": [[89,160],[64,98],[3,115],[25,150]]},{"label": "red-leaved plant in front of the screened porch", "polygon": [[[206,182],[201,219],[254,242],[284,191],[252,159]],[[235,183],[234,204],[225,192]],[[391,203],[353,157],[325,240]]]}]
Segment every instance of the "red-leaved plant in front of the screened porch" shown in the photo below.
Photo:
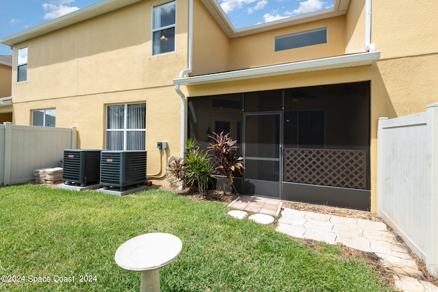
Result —
[{"label": "red-leaved plant in front of the screened porch", "polygon": [[[230,133],[224,135],[224,132],[220,134],[214,133],[209,136],[214,140],[214,143],[209,143],[208,150],[209,156],[216,158],[216,171],[222,176],[227,178],[230,185],[234,188],[234,173],[242,174],[244,169],[244,157],[240,157],[237,154],[236,146],[237,140],[233,140],[230,137]],[[225,180],[223,181],[223,191],[225,193]]]}]

